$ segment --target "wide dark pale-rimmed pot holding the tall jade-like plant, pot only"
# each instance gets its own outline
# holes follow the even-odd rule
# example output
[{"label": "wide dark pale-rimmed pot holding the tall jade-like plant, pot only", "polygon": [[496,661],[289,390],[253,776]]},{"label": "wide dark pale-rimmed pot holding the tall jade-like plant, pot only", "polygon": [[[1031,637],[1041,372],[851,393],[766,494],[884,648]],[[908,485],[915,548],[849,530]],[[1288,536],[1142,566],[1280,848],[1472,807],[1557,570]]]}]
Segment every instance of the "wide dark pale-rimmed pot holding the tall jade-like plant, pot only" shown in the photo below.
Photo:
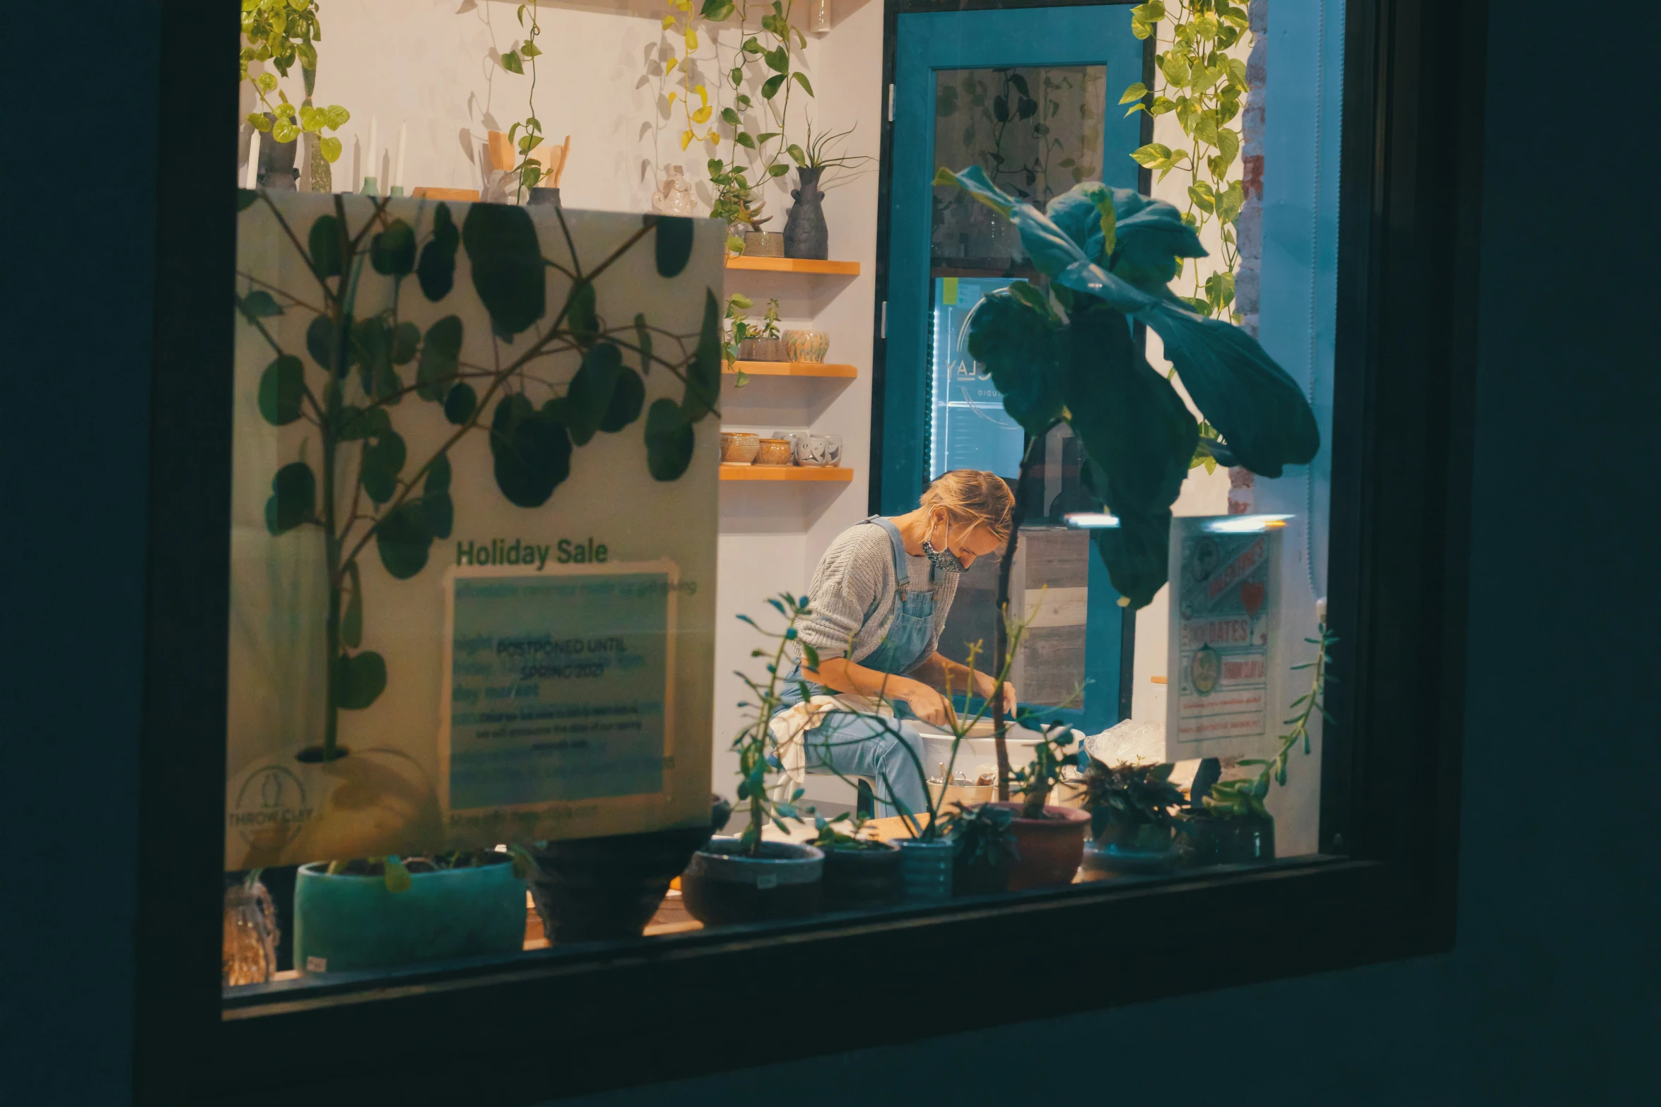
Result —
[{"label": "wide dark pale-rimmed pot holding the tall jade-like plant, pot only", "polygon": [[737,838],[716,838],[681,873],[681,903],[704,926],[817,914],[824,860],[809,845],[762,841],[749,856],[739,853]]}]

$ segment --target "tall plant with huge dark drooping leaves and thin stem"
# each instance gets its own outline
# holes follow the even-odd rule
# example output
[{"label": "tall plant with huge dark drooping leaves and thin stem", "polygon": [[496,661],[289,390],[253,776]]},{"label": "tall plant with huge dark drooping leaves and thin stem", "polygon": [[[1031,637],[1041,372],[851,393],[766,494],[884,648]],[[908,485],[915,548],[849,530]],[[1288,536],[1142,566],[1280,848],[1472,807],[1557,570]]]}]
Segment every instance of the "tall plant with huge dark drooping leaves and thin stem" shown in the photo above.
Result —
[{"label": "tall plant with huge dark drooping leaves and thin stem", "polygon": [[[987,295],[970,317],[968,350],[1033,443],[1056,423],[1071,428],[1085,485],[1118,521],[1095,529],[1091,539],[1120,604],[1144,607],[1166,583],[1171,505],[1199,443],[1199,423],[1171,382],[1148,365],[1131,324],[1161,337],[1189,398],[1221,435],[1214,451],[1229,465],[1279,476],[1286,465],[1307,463],[1320,446],[1314,412],[1256,339],[1194,312],[1169,290],[1179,261],[1206,254],[1174,206],[1086,181],[1040,212],[995,188],[978,166],[955,174],[942,169],[935,183],[962,188],[1020,231],[1040,279]],[[1033,461],[1028,448],[998,571],[1002,611]],[[1007,656],[1000,621],[995,666],[1002,669]],[[1007,795],[1002,702],[993,704],[993,724],[1000,793]]]}]

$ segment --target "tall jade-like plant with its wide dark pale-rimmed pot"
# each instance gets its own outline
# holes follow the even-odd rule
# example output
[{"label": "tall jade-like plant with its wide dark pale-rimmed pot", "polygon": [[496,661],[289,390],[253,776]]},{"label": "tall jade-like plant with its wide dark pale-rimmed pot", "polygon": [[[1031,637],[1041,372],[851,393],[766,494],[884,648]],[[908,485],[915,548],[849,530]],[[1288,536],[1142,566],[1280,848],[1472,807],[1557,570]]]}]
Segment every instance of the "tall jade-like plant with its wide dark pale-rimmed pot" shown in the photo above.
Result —
[{"label": "tall jade-like plant with its wide dark pale-rimmed pot", "polygon": [[[786,661],[786,647],[797,641],[796,624],[807,616],[806,597],[797,599],[784,593],[767,602],[786,619],[784,631],[777,634],[762,631],[749,616],[739,616],[756,631],[777,639],[767,662],[767,682],[759,684],[744,677],[744,684],[759,702],[747,704],[754,707],[756,717],[733,739],[733,752],[737,753],[737,802],[746,810],[747,822],[737,836],[716,838],[693,853],[691,863],[681,873],[681,900],[686,911],[706,926],[802,918],[819,911],[821,903],[824,851],[812,845],[762,838],[767,823],[789,833],[786,818],[802,822],[796,808],[802,788],[796,788],[789,800],[774,800],[767,790],[767,775],[782,768],[772,752],[769,729],[772,714],[782,705],[779,672]],[[767,654],[756,649],[751,656]]]}]

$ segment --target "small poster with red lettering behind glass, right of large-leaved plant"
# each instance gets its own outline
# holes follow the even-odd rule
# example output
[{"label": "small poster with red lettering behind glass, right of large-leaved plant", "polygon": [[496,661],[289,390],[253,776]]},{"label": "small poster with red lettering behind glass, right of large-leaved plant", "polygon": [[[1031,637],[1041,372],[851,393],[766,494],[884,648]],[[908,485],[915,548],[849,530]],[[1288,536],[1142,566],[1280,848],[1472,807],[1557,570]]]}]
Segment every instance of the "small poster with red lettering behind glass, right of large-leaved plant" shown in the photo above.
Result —
[{"label": "small poster with red lettering behind glass, right of large-leaved plant", "polygon": [[1279,719],[1276,672],[1281,523],[1257,516],[1173,519],[1171,695],[1166,755],[1261,749]]}]

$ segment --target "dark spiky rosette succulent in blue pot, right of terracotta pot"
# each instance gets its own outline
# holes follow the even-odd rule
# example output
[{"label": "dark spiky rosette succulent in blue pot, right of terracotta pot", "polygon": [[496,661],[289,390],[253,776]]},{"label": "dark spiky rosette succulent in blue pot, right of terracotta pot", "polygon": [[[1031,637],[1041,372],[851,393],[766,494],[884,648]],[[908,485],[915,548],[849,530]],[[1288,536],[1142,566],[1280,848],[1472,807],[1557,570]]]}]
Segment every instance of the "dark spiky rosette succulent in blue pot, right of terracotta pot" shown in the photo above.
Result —
[{"label": "dark spiky rosette succulent in blue pot, right of terracotta pot", "polygon": [[1090,757],[1080,777],[1083,805],[1090,812],[1088,876],[1171,870],[1176,812],[1186,803],[1171,783],[1173,768],[1169,762],[1108,765]]}]

